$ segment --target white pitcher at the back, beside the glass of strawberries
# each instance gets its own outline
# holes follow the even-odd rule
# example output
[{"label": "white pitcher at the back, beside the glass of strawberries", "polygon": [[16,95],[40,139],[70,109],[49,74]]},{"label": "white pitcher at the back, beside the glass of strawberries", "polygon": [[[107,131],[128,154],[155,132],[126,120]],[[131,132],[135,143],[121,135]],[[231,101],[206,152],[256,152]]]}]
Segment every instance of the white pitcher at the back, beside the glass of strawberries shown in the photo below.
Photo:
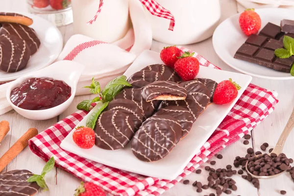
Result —
[{"label": "white pitcher at the back, beside the glass of strawberries", "polygon": [[100,0],[72,0],[73,29],[104,42],[114,42],[124,37],[129,29],[128,0],[104,0],[97,20],[87,24],[96,14]]}]

